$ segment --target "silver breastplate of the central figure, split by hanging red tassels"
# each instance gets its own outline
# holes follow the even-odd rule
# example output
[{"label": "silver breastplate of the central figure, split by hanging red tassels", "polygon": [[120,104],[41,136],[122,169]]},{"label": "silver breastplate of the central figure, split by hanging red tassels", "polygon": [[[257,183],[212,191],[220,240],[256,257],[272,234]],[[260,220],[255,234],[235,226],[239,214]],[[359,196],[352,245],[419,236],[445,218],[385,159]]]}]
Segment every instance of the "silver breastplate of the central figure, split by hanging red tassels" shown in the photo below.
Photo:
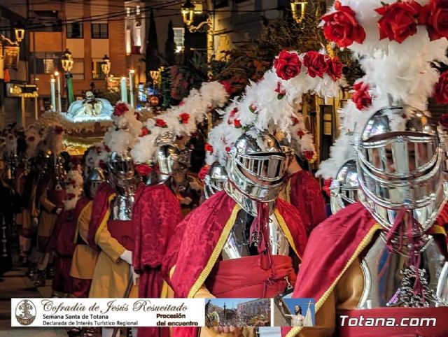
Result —
[{"label": "silver breastplate of the central figure, split by hanging red tassels", "polygon": [[[254,253],[254,250],[256,252],[256,248],[253,249],[249,245],[248,227],[250,226],[251,224],[247,223],[247,213],[244,210],[240,210],[221,252],[224,260],[239,259],[240,257],[248,257],[256,254]],[[288,256],[290,245],[274,214],[269,216],[268,227],[271,254]]]}]

